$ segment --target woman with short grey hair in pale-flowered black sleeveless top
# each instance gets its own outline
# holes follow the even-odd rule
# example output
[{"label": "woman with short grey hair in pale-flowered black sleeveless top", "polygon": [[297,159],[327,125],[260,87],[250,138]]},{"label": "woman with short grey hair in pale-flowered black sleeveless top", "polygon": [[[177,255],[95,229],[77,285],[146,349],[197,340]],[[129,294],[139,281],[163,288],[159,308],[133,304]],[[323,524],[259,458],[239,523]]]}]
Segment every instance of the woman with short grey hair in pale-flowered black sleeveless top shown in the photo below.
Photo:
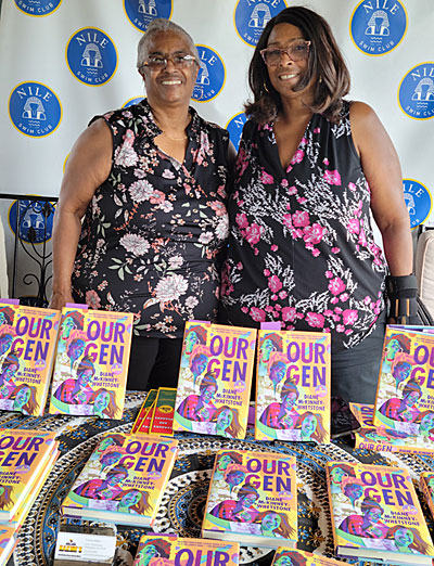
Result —
[{"label": "woman with short grey hair in pale-flowered black sleeveless top", "polygon": [[200,59],[187,31],[154,20],[137,67],[146,99],[93,118],[68,158],[51,306],[133,312],[128,388],[145,389],[176,386],[184,322],[216,317],[230,147],[189,106]]}]

